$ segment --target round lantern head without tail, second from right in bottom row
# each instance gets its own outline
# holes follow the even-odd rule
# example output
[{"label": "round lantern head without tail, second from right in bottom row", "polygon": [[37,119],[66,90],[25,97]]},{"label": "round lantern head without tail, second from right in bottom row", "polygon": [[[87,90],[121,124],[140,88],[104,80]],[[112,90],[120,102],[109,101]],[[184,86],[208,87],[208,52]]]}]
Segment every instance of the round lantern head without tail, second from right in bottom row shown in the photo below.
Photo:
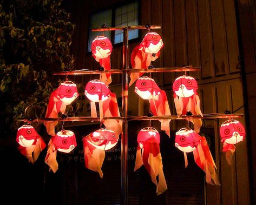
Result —
[{"label": "round lantern head without tail, second from right in bottom row", "polygon": [[201,142],[201,136],[191,128],[181,128],[175,135],[175,147],[179,150],[190,153],[196,149]]}]

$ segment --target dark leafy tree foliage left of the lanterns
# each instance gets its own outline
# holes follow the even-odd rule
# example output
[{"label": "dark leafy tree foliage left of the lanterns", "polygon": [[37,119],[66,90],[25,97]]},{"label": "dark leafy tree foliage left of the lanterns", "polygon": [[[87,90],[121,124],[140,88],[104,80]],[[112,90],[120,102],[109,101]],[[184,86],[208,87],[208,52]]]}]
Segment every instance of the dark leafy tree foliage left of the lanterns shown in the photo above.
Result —
[{"label": "dark leafy tree foliage left of the lanterns", "polygon": [[1,124],[28,116],[28,108],[28,117],[43,116],[57,87],[52,74],[74,67],[69,18],[62,0],[0,0]]}]

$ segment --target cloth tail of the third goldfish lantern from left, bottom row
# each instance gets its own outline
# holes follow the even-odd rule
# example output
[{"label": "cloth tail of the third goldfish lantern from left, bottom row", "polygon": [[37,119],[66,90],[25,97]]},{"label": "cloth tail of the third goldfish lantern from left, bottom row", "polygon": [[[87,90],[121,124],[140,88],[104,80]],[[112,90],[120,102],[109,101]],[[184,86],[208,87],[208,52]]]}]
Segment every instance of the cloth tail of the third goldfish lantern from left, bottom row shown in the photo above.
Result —
[{"label": "cloth tail of the third goldfish lantern from left, bottom row", "polygon": [[91,143],[93,141],[90,135],[83,138],[84,163],[87,169],[96,171],[102,178],[103,173],[101,167],[104,162],[105,151],[94,147]]}]

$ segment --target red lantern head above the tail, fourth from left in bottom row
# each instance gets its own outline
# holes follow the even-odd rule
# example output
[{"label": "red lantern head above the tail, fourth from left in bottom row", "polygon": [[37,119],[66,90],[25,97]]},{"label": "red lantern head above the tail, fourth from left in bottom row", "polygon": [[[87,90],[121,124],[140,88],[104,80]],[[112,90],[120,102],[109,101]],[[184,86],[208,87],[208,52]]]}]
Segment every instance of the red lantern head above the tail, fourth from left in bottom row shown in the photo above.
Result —
[{"label": "red lantern head above the tail, fourth from left in bottom row", "polygon": [[143,149],[146,141],[152,140],[156,144],[160,144],[160,134],[153,127],[146,127],[139,131],[137,135],[137,142],[140,145],[140,148]]}]

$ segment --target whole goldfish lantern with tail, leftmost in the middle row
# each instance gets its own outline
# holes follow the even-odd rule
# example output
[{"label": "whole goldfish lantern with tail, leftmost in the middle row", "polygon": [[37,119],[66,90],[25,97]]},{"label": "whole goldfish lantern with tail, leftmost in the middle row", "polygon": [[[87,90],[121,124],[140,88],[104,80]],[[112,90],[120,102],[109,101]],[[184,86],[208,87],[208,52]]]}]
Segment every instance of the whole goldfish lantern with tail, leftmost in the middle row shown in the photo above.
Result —
[{"label": "whole goldfish lantern with tail, leftmost in the middle row", "polygon": [[[78,97],[76,84],[71,81],[65,81],[54,91],[51,92],[46,118],[56,118],[58,113],[65,113],[66,106],[71,104]],[[55,126],[57,122],[44,122],[49,135],[55,136]]]}]

